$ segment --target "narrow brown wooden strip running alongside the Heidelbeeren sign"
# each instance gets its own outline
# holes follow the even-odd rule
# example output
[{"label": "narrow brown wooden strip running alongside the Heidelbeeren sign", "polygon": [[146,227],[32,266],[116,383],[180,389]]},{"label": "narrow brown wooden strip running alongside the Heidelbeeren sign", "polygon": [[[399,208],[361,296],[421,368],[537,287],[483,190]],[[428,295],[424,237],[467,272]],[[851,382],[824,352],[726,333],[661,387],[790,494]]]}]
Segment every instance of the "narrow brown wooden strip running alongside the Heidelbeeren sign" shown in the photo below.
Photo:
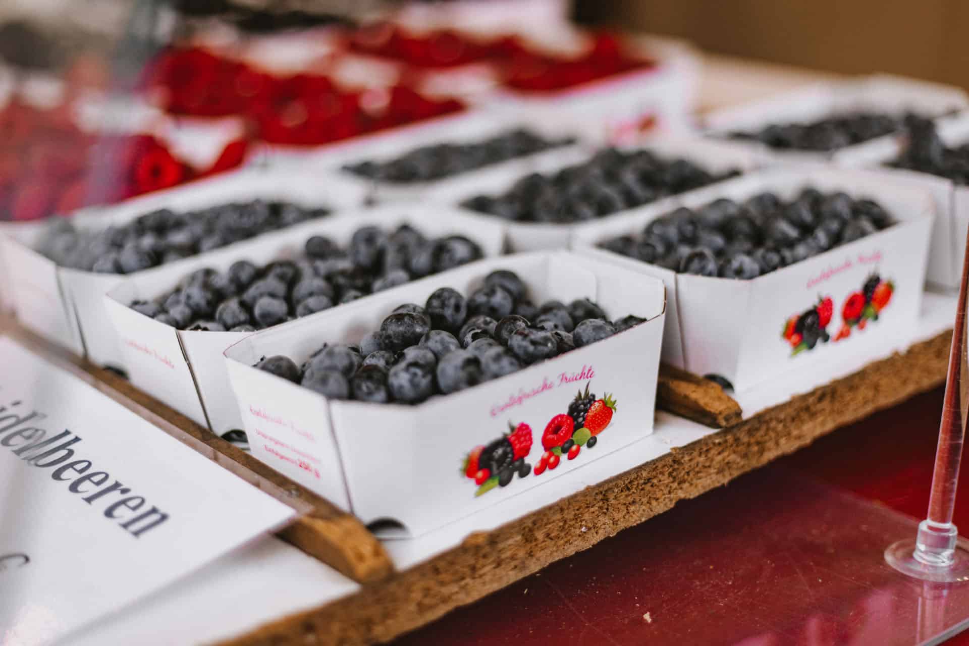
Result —
[{"label": "narrow brown wooden strip running alongside the Heidelbeeren sign", "polygon": [[393,564],[383,545],[353,514],[336,508],[325,498],[277,473],[115,373],[50,344],[3,314],[0,314],[0,333],[47,357],[178,441],[295,508],[300,515],[278,533],[279,538],[361,583],[385,578],[393,571]]}]

